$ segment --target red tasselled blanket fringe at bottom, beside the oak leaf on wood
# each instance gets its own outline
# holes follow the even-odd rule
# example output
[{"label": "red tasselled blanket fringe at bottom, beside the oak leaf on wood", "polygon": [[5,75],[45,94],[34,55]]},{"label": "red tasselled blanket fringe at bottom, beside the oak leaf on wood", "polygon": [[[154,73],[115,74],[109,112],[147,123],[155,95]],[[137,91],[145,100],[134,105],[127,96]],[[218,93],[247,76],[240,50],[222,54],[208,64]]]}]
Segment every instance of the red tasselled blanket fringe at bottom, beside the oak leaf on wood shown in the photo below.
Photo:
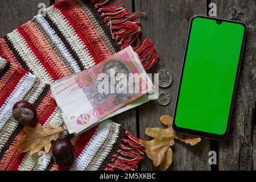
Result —
[{"label": "red tasselled blanket fringe at bottom, beside the oak leaf on wood", "polygon": [[125,131],[125,139],[119,144],[119,149],[112,155],[110,164],[104,171],[135,171],[138,163],[144,158],[144,147],[139,143],[139,139]]}]

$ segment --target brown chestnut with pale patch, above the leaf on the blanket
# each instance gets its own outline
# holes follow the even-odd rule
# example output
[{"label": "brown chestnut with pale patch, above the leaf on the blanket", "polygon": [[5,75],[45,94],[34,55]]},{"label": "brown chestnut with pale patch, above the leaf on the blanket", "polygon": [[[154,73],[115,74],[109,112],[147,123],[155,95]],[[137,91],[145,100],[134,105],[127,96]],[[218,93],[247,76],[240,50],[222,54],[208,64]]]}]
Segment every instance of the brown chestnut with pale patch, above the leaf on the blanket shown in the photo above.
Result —
[{"label": "brown chestnut with pale patch, above the leaf on the blanket", "polygon": [[28,125],[36,118],[36,110],[34,105],[28,101],[19,101],[13,105],[13,118],[22,123]]}]

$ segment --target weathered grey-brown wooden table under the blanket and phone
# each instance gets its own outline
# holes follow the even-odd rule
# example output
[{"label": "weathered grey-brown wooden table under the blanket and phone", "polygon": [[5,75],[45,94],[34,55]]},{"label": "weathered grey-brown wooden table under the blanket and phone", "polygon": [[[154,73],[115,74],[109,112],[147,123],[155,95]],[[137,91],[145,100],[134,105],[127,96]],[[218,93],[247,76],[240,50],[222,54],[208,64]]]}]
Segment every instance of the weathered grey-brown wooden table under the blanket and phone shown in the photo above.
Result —
[{"label": "weathered grey-brown wooden table under the blanket and phone", "polygon": [[[2,0],[0,6],[0,36],[26,23],[38,13],[39,3],[48,7],[51,0]],[[173,163],[170,170],[252,170],[256,169],[256,1],[255,0],[125,0],[123,3],[130,11],[143,11],[141,17],[142,37],[150,37],[155,43],[160,61],[152,73],[160,69],[170,71],[174,83],[163,89],[171,95],[168,106],[160,106],[151,101],[114,117],[127,130],[140,138],[150,139],[145,134],[146,127],[164,127],[159,117],[174,113],[175,98],[179,84],[181,65],[187,38],[189,20],[193,15],[207,15],[208,5],[217,5],[217,16],[241,20],[247,24],[246,48],[242,61],[241,75],[238,81],[236,102],[230,126],[229,137],[224,142],[202,139],[197,146],[176,142]],[[210,40],[209,40],[210,43]],[[193,117],[193,116],[191,116]],[[218,154],[218,164],[210,166],[209,151]],[[142,162],[142,170],[154,170],[149,159]]]}]

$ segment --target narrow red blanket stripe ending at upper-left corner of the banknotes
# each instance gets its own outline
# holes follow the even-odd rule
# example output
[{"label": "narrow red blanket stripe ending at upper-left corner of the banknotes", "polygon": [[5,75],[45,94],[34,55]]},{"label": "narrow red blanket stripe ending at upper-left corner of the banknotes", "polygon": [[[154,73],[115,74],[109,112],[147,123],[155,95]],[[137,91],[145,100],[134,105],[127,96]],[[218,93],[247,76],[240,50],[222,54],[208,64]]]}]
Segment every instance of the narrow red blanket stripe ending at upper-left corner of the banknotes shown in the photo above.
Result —
[{"label": "narrow red blanket stripe ending at upper-left corner of the banknotes", "polygon": [[60,77],[57,76],[55,71],[51,67],[49,67],[49,65],[46,63],[46,59],[43,56],[43,53],[41,52],[41,50],[36,49],[36,46],[31,41],[30,36],[26,33],[24,28],[22,26],[20,26],[20,27],[17,28],[17,30],[18,30],[19,34],[23,36],[24,40],[27,43],[27,46],[31,49],[31,51],[34,53],[36,58],[40,61],[40,63],[46,69],[47,73],[49,73],[49,75],[52,77],[52,79],[53,80],[59,80]]}]

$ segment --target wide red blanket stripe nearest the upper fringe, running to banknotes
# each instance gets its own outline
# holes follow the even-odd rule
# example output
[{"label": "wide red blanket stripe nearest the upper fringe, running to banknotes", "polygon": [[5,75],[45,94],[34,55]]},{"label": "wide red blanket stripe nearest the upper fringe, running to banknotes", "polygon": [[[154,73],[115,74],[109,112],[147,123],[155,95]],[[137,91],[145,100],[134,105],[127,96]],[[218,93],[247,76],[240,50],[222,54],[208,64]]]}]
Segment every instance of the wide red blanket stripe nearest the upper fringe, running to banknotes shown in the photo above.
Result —
[{"label": "wide red blanket stripe nearest the upper fringe, running to banknotes", "polygon": [[76,31],[76,34],[79,36],[79,38],[82,40],[82,42],[88,49],[90,56],[93,57],[94,62],[96,64],[100,63],[102,61],[102,59],[97,51],[98,48],[95,47],[92,44],[92,42],[90,42],[90,40],[87,36],[88,30],[84,30],[83,28],[81,28],[80,23],[77,21],[76,17],[73,16],[73,14],[72,14],[74,5],[69,1],[59,1],[59,2],[55,3],[54,6],[60,10],[60,12],[64,16],[64,18],[68,20],[69,24]]}]

